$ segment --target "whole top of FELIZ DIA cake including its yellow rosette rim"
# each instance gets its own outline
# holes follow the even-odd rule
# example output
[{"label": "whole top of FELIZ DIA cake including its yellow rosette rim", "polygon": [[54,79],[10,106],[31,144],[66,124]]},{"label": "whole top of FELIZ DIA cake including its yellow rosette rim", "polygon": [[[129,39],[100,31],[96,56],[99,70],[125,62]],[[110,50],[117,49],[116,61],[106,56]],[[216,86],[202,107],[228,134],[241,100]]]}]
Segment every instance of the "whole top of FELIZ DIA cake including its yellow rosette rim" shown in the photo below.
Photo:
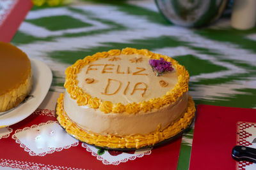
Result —
[{"label": "whole top of FELIZ DIA cake including its yellow rosette rim", "polygon": [[[157,76],[149,60],[172,63],[172,71]],[[77,60],[65,71],[64,87],[78,106],[104,113],[138,113],[175,102],[188,91],[189,73],[166,55],[124,48]]]}]

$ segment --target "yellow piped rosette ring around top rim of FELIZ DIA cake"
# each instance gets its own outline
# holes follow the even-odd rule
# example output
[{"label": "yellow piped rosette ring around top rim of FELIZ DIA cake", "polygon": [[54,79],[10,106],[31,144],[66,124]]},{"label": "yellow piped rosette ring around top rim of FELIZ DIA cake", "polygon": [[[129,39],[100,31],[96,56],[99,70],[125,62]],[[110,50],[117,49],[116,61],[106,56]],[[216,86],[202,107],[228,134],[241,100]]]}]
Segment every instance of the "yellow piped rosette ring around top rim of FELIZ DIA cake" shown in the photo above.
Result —
[{"label": "yellow piped rosette ring around top rim of FELIZ DIA cake", "polygon": [[[80,69],[90,62],[93,62],[100,58],[106,58],[116,55],[131,55],[131,54],[140,54],[145,55],[150,59],[160,59],[161,57],[168,62],[172,62],[172,66],[177,70],[178,74],[178,83],[175,87],[166,92],[162,97],[156,99],[150,99],[149,101],[143,101],[140,103],[111,103],[110,101],[101,101],[97,97],[92,97],[86,92],[83,92],[81,87],[78,87],[77,83],[77,73]],[[84,57],[84,59],[79,59],[72,66],[67,67],[66,71],[66,81],[64,87],[67,89],[68,94],[72,99],[77,101],[78,106],[87,105],[90,108],[97,109],[104,113],[138,113],[139,111],[150,111],[153,108],[160,108],[161,106],[175,102],[184,92],[188,91],[188,81],[189,73],[184,66],[181,66],[176,60],[168,57],[166,55],[161,55],[159,53],[153,53],[146,49],[137,50],[136,48],[124,48],[122,50],[109,50],[108,52],[98,52],[92,56]]]}]

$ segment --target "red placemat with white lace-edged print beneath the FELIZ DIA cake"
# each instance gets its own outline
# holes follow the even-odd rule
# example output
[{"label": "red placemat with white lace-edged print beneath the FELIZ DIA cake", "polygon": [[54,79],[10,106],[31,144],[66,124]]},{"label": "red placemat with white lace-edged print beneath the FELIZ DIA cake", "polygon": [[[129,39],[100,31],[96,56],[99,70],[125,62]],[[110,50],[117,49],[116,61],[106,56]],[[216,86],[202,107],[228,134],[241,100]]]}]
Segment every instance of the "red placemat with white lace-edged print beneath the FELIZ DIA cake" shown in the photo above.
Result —
[{"label": "red placemat with white lace-edged print beneath the FELIZ DIA cake", "polygon": [[136,152],[108,152],[69,136],[54,111],[37,109],[0,129],[0,167],[20,169],[176,169],[181,138]]}]

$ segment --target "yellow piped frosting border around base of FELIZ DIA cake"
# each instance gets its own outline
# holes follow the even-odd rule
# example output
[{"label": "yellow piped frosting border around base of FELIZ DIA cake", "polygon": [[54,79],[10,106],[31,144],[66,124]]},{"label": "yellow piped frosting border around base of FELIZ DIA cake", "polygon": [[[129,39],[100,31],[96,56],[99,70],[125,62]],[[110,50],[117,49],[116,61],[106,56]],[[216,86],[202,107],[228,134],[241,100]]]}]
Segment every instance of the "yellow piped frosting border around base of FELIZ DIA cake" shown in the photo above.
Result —
[{"label": "yellow piped frosting border around base of FELIZ DIA cake", "polygon": [[100,134],[84,131],[73,123],[70,118],[68,118],[63,108],[63,96],[63,94],[60,94],[56,106],[57,120],[61,127],[63,127],[68,134],[74,136],[74,138],[77,138],[80,141],[90,145],[102,147],[107,146],[109,148],[141,148],[143,146],[154,146],[156,143],[164,141],[168,138],[172,138],[176,134],[179,134],[179,132],[183,129],[186,129],[188,125],[191,124],[193,117],[195,117],[196,110],[195,103],[189,96],[188,106],[183,117],[177,122],[168,125],[164,129],[161,129],[161,125],[159,125],[155,132],[151,132],[146,135],[135,134],[125,137],[115,135],[101,136]]}]

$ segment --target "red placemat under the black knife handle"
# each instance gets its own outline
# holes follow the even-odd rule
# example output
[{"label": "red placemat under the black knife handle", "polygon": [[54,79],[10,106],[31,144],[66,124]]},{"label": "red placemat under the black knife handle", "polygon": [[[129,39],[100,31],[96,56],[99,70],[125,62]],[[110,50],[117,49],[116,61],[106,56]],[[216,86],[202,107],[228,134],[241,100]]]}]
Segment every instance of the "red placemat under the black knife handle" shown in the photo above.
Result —
[{"label": "red placemat under the black knife handle", "polygon": [[256,148],[256,110],[198,105],[189,169],[252,169],[232,159],[236,145]]}]

